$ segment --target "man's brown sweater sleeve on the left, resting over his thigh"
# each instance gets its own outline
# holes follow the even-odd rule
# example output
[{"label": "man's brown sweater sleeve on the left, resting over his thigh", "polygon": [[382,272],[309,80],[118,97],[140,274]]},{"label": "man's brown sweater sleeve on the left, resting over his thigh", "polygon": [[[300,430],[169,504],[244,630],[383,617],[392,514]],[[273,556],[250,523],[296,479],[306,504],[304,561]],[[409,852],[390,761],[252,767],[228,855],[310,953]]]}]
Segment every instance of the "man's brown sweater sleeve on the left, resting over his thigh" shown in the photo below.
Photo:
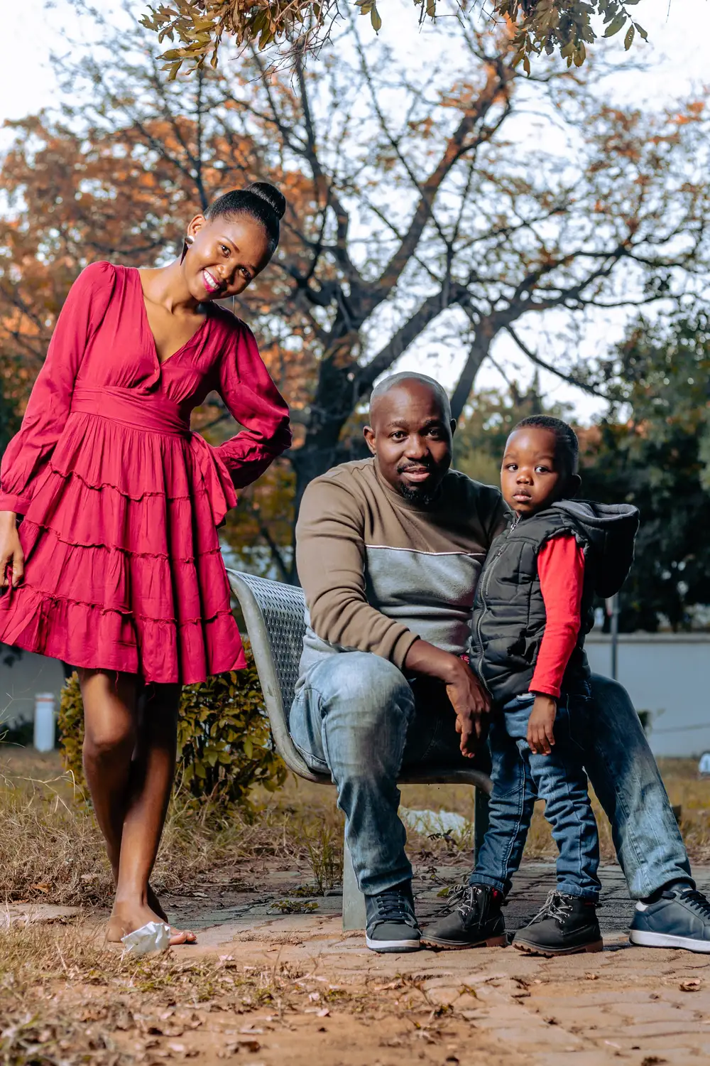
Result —
[{"label": "man's brown sweater sleeve on the left, resting over his thigh", "polygon": [[296,567],[316,636],[401,669],[416,633],[367,602],[362,506],[334,478],[316,479],[303,494]]}]

